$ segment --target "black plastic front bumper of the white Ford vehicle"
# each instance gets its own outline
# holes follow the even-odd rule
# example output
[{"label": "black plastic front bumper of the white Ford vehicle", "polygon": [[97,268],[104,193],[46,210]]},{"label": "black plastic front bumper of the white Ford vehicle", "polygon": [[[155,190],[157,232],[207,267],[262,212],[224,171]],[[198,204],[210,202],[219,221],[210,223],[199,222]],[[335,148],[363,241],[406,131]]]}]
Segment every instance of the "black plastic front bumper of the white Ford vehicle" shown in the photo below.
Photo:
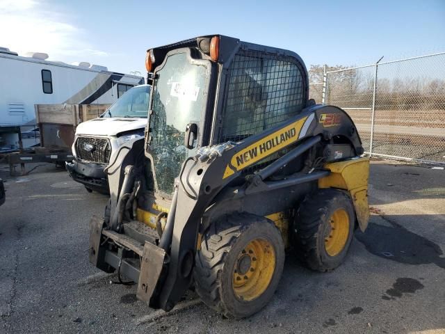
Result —
[{"label": "black plastic front bumper of the white Ford vehicle", "polygon": [[67,162],[66,167],[72,180],[99,193],[110,193],[108,178],[104,172],[106,165],[81,162],[74,159],[72,163]]}]

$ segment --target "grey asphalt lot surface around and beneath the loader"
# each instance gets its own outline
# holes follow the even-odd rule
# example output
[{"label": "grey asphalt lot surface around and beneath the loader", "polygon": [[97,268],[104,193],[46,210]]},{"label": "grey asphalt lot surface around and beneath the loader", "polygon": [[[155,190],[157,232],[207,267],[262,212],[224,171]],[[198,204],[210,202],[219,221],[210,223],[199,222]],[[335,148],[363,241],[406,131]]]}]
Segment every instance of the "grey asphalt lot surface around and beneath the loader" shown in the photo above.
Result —
[{"label": "grey asphalt lot surface around and beneath the loader", "polygon": [[225,319],[190,293],[165,314],[88,262],[88,221],[107,198],[65,170],[6,179],[0,207],[0,333],[445,333],[445,171],[374,161],[366,233],[314,273],[291,255],[275,297]]}]

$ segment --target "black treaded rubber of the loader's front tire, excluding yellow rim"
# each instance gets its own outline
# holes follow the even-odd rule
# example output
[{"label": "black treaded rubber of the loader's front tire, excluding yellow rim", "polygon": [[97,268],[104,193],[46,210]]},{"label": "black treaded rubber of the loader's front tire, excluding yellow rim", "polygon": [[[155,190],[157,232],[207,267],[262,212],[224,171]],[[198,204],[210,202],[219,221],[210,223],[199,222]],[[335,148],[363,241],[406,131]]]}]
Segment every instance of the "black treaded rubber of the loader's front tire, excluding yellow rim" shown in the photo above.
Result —
[{"label": "black treaded rubber of the loader's front tire, excluding yellow rim", "polygon": [[[233,268],[239,252],[252,239],[268,239],[275,250],[275,271],[263,294],[240,301],[232,287]],[[234,260],[235,259],[235,260]],[[213,223],[202,236],[195,258],[195,289],[202,301],[226,317],[248,317],[272,298],[284,266],[284,243],[275,224],[252,214],[233,214]]]}]

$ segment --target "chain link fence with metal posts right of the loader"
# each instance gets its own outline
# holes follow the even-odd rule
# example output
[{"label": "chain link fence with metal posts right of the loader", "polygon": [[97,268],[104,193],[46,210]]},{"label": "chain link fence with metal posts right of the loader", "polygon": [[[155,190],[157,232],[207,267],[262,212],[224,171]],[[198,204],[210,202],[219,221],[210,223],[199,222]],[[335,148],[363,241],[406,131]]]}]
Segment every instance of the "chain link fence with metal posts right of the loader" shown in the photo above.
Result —
[{"label": "chain link fence with metal posts right of the loader", "polygon": [[445,52],[325,71],[309,89],[353,118],[367,154],[445,164]]}]

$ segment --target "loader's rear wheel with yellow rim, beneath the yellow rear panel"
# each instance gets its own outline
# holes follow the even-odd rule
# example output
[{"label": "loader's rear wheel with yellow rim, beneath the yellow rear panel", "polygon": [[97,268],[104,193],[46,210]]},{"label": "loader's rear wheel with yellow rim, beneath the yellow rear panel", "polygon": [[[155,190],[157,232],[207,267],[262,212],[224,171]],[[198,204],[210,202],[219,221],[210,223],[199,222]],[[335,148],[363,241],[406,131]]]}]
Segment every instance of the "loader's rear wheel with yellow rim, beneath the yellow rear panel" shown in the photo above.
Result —
[{"label": "loader's rear wheel with yellow rim, beneath the yellow rear panel", "polygon": [[293,228],[296,255],[310,269],[333,270],[343,262],[353,239],[355,211],[348,194],[321,189],[298,208]]}]

